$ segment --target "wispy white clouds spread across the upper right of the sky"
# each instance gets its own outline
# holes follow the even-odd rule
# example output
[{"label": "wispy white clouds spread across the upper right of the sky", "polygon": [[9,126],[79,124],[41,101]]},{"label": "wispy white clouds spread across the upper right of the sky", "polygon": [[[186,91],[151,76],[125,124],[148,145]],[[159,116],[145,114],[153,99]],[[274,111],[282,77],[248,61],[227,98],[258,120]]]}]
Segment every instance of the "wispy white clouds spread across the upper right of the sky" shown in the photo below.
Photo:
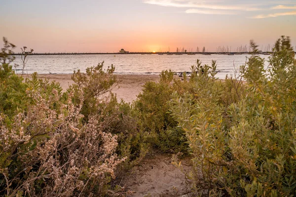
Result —
[{"label": "wispy white clouds spread across the upper right of the sky", "polygon": [[[244,15],[246,12],[255,12],[258,15],[249,17],[255,19],[296,15],[295,0],[143,0],[143,2],[183,8],[185,10],[181,12],[187,14]],[[273,13],[274,10],[279,9],[290,9],[290,11]],[[262,11],[262,13],[258,11]]]}]

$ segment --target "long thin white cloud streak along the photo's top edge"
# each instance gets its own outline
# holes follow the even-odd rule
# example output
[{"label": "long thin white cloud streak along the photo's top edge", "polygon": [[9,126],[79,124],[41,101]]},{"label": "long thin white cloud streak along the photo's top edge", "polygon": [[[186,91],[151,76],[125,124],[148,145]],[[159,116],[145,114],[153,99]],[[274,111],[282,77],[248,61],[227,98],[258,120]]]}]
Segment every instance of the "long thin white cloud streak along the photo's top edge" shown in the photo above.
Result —
[{"label": "long thin white cloud streak along the photo's top edge", "polygon": [[[217,2],[217,1],[214,1]],[[244,10],[244,11],[255,11],[260,10],[258,7],[252,5],[226,5],[217,4],[213,1],[202,1],[202,0],[145,0],[144,3],[167,6],[167,7],[181,7],[181,8],[204,8],[204,9],[215,9],[215,10]]]}]

